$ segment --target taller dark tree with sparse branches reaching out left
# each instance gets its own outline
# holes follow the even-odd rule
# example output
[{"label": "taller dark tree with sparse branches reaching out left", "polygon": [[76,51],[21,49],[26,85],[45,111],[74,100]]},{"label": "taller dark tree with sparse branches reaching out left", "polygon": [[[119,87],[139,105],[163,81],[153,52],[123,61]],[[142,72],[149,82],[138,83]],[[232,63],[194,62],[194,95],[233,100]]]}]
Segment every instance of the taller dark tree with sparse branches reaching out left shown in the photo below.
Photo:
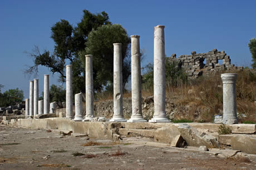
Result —
[{"label": "taller dark tree with sparse branches reaching out left", "polygon": [[92,14],[83,10],[83,17],[75,27],[67,20],[61,19],[51,27],[51,38],[55,42],[52,53],[45,50],[43,53],[35,46],[32,53],[27,53],[33,60],[33,65],[28,66],[26,74],[37,74],[38,66],[46,66],[53,74],[59,74],[61,82],[66,81],[65,66],[72,65],[73,94],[85,92],[85,68],[81,65],[78,53],[84,50],[88,34],[101,25],[111,24],[105,12]]}]

